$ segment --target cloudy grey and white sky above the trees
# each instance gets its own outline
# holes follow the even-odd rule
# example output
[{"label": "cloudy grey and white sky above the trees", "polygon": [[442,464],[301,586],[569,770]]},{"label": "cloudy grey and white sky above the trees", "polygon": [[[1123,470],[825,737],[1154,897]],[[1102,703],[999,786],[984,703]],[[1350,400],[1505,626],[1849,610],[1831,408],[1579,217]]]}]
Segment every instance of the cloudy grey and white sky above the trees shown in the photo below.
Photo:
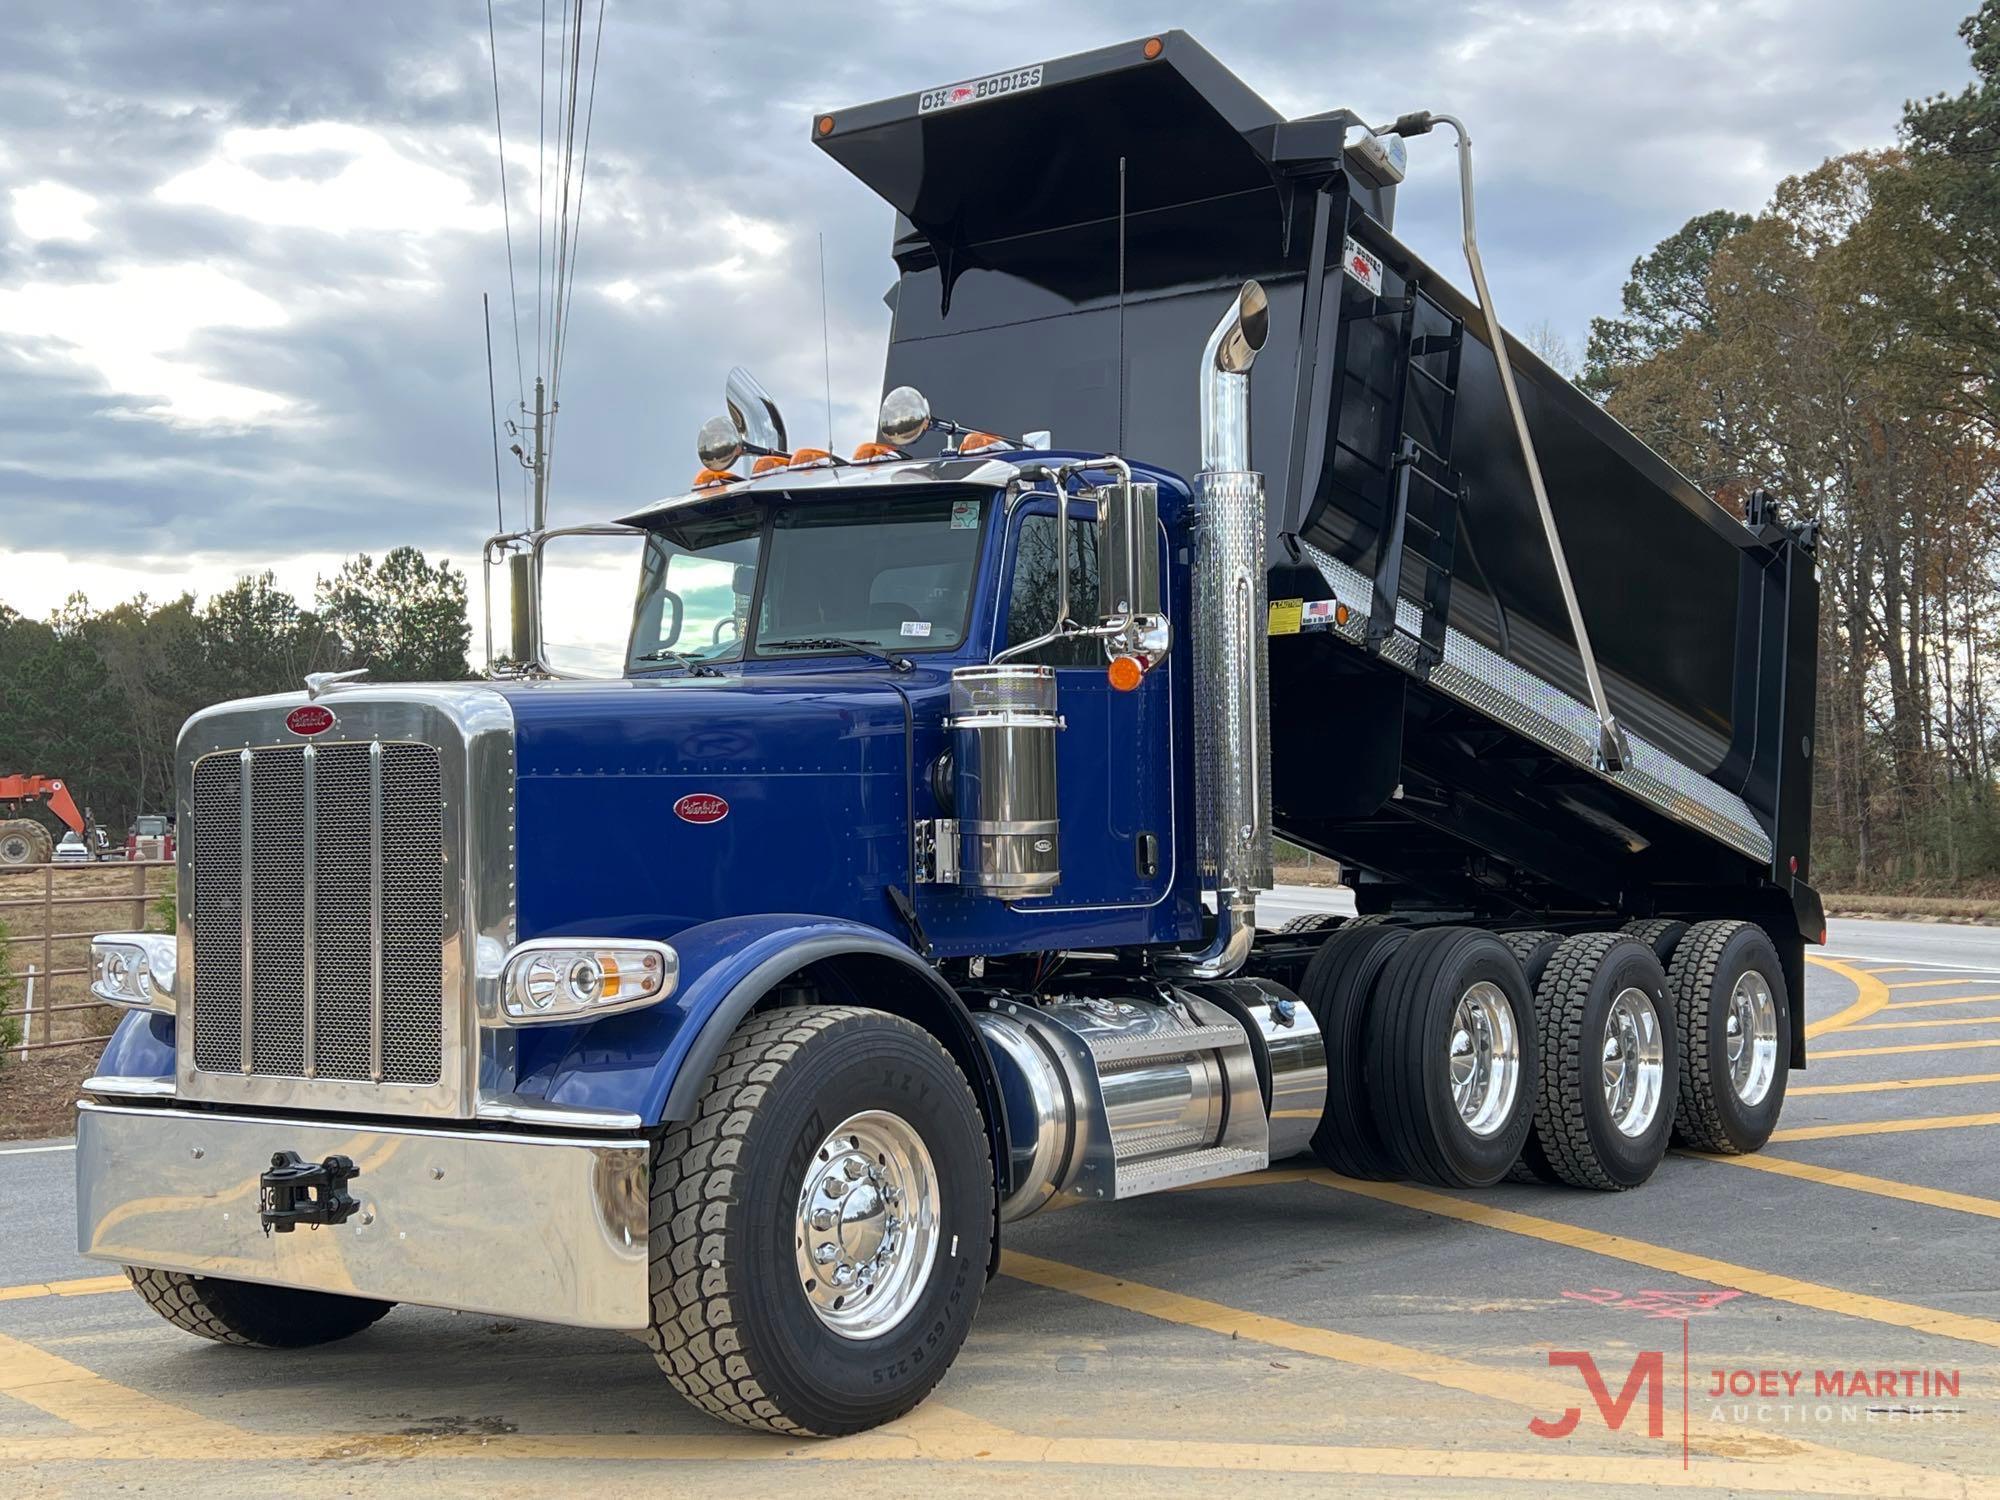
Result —
[{"label": "cloudy grey and white sky above the trees", "polygon": [[[552,518],[678,488],[730,364],[818,428],[820,236],[836,428],[866,436],[892,216],[808,144],[814,110],[1182,26],[1290,114],[1466,116],[1502,312],[1580,348],[1688,216],[1756,210],[1788,172],[1888,144],[1904,98],[1960,88],[1970,8],[608,0]],[[528,380],[542,12],[494,4]],[[548,50],[554,70],[554,18]],[[502,416],[516,396],[488,56],[472,0],[12,8],[0,602],[206,592],[266,566],[310,596],[340,556],[400,542],[476,560],[482,292]],[[1398,222],[1440,266],[1458,264],[1446,150],[1416,146]],[[516,470],[506,506],[516,522]]]}]

